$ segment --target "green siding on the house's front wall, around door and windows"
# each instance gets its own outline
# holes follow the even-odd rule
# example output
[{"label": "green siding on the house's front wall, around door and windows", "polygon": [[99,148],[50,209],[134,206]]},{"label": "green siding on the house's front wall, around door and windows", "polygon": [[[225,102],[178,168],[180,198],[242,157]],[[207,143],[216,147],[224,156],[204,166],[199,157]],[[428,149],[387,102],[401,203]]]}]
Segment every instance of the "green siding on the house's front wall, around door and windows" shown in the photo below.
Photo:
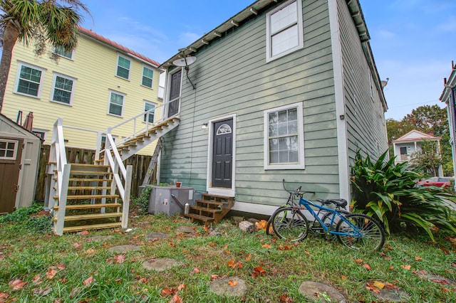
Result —
[{"label": "green siding on the house's front wall, around door and windows", "polygon": [[[180,125],[165,137],[161,181],[206,191],[209,119],[236,115],[236,201],[281,205],[281,180],[337,197],[338,149],[326,1],[305,0],[304,49],[266,63],[265,12],[194,55]],[[264,110],[303,102],[305,169],[264,169]]]}]

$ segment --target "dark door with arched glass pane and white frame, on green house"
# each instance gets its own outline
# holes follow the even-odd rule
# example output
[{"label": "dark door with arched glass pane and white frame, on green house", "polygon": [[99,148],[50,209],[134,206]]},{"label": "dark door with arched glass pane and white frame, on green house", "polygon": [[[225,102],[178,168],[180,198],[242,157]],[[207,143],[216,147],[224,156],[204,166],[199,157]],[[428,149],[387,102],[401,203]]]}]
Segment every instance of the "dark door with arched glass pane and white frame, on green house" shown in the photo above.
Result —
[{"label": "dark door with arched glass pane and white frame, on green house", "polygon": [[233,119],[214,123],[212,187],[232,187]]}]

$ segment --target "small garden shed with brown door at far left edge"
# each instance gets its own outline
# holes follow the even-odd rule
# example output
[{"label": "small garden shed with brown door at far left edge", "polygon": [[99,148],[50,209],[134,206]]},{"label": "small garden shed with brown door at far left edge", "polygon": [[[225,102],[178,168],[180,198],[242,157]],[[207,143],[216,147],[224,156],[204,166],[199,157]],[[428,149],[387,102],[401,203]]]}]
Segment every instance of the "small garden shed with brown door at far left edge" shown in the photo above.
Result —
[{"label": "small garden shed with brown door at far left edge", "polygon": [[0,214],[31,206],[41,139],[0,114]]}]

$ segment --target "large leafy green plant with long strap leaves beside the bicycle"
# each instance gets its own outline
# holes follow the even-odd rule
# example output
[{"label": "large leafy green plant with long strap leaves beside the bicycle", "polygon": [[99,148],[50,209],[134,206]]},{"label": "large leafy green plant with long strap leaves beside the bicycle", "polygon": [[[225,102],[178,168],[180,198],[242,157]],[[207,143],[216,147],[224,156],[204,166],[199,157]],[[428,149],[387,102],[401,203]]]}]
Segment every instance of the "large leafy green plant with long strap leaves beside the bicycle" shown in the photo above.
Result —
[{"label": "large leafy green plant with long strap leaves beside the bicycle", "polygon": [[[388,151],[387,151],[388,152]],[[453,197],[442,188],[417,186],[420,168],[407,162],[395,164],[386,159],[387,152],[377,161],[356,154],[351,167],[353,208],[378,218],[388,233],[404,228],[421,228],[434,240],[431,227],[456,233],[455,211],[450,207]]]}]

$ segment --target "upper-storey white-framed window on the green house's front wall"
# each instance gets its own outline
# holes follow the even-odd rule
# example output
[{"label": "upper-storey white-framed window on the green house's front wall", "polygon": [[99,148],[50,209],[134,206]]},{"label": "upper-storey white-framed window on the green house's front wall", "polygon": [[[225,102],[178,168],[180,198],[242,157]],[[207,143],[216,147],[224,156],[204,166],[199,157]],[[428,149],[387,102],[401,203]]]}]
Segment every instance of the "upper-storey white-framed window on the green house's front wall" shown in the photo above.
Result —
[{"label": "upper-storey white-framed window on the green house's front wall", "polygon": [[302,1],[287,1],[266,14],[266,62],[304,47]]}]

